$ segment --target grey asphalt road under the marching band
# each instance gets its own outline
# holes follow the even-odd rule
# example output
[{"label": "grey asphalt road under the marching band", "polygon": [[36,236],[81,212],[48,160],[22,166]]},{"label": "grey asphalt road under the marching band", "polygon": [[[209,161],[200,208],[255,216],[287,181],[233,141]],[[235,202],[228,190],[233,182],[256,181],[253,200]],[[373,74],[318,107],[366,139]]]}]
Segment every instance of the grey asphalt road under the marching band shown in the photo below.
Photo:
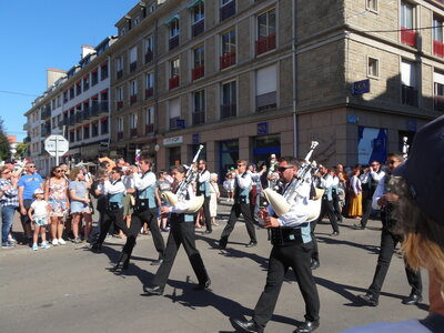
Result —
[{"label": "grey asphalt road under the marching band", "polygon": [[[1,250],[0,332],[236,332],[230,317],[250,319],[265,283],[271,245],[266,231],[258,230],[259,245],[246,249],[249,238],[241,222],[226,251],[213,249],[229,210],[229,205],[220,206],[220,225],[212,234],[196,230],[211,291],[193,290],[196,278],[180,249],[164,295],[144,295],[142,284],[150,283],[157,271],[150,265],[157,252],[147,235],[138,238],[132,263],[123,274],[108,270],[123,245],[120,239],[107,241],[101,254],[72,243],[37,252],[23,245]],[[401,304],[410,286],[398,253],[393,256],[380,305],[367,307],[357,302],[356,294],[364,293],[373,278],[381,224],[370,221],[370,228],[361,231],[354,230],[353,223],[346,220],[337,238],[330,236],[332,229],[325,220],[316,228],[321,253],[321,268],[314,271],[321,297],[321,326],[316,332],[426,316],[426,273],[424,303]],[[18,221],[14,225],[20,229]],[[265,332],[293,332],[304,320],[304,309],[297,283],[289,272]]]}]

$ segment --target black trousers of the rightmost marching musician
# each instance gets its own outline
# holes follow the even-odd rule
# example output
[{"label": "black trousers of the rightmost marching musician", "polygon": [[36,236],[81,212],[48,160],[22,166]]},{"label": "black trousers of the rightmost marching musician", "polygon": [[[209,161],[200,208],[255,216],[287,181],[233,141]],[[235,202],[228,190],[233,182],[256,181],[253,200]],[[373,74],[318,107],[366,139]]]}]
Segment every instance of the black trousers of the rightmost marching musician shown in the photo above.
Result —
[{"label": "black trousers of the rightmost marching musician", "polygon": [[[376,271],[373,276],[372,285],[369,287],[369,293],[373,294],[376,299],[380,296],[382,285],[387,274],[390,262],[392,261],[393,252],[395,251],[396,244],[401,242],[398,235],[391,233],[385,226],[381,233],[381,251],[377,256]],[[407,264],[405,264],[405,274],[407,275],[408,284],[412,286],[412,293],[421,295],[423,292],[421,271],[413,271]]]}]

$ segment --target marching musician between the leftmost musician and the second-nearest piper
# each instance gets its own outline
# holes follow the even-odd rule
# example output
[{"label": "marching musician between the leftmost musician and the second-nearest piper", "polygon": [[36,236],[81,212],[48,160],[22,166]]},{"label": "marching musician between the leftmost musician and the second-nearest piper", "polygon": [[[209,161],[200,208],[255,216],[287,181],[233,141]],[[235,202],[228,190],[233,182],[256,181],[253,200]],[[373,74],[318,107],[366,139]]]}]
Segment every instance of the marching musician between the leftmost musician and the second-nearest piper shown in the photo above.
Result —
[{"label": "marching musician between the leftmost musician and the second-nearest piper", "polygon": [[[125,270],[130,262],[132,250],[135,246],[135,238],[138,236],[142,222],[147,222],[151,230],[155,250],[159,252],[159,259],[151,262],[152,265],[162,263],[165,244],[158,224],[158,206],[155,200],[155,174],[151,171],[152,159],[148,155],[141,155],[139,169],[140,175],[134,170],[135,183],[135,206],[131,216],[131,226],[127,234],[127,243],[123,246],[122,254],[114,265],[113,270]],[[134,168],[135,169],[135,168]]]}]

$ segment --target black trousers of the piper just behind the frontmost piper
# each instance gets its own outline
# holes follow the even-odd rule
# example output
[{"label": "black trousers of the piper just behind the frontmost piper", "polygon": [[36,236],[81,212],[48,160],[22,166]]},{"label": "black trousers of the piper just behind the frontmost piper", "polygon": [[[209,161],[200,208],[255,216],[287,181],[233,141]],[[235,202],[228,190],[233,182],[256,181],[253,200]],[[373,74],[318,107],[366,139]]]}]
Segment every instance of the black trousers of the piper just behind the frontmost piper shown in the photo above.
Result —
[{"label": "black trousers of the piper just behind the frontmost piper", "polygon": [[153,284],[164,287],[173,268],[175,255],[181,244],[198,278],[199,284],[204,284],[210,278],[203,264],[202,256],[195,248],[194,223],[183,222],[183,214],[171,214],[171,230],[167,241],[163,262],[154,275]]}]

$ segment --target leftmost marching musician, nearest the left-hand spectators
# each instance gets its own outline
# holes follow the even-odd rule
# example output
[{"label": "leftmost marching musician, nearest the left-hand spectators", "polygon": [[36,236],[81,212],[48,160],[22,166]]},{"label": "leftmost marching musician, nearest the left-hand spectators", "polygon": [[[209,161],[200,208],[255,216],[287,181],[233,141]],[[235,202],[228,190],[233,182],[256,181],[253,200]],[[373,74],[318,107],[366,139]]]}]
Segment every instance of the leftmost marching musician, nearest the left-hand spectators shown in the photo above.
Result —
[{"label": "leftmost marching musician, nearest the left-hand spectators", "polygon": [[125,234],[128,234],[127,224],[123,221],[123,204],[122,199],[125,195],[125,186],[121,180],[122,169],[119,167],[112,168],[112,182],[107,178],[102,179],[103,194],[107,195],[107,209],[101,219],[100,235],[91,250],[100,252],[102,244],[110,230],[111,223],[114,222]]}]

